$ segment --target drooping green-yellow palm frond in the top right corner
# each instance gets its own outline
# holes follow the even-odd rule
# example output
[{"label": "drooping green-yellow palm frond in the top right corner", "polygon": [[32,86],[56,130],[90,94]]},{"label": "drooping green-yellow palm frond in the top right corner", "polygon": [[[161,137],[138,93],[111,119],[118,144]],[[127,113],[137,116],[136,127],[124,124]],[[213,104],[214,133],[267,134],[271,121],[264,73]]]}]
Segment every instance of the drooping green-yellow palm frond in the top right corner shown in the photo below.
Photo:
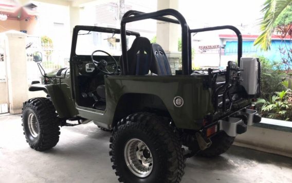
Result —
[{"label": "drooping green-yellow palm frond in the top right corner", "polygon": [[292,0],[266,0],[261,10],[264,13],[260,24],[262,34],[255,39],[253,45],[261,45],[262,50],[268,50],[270,48],[274,23],[281,12],[291,4]]}]

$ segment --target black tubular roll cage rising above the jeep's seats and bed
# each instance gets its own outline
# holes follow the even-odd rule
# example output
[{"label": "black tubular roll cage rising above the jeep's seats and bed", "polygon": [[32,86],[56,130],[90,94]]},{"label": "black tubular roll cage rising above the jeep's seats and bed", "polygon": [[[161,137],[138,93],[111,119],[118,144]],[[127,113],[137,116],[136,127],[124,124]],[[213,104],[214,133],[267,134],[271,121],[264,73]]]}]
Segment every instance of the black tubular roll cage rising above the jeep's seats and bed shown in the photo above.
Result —
[{"label": "black tubular roll cage rising above the jeep's seats and bed", "polygon": [[[172,15],[176,19],[164,17]],[[177,10],[164,9],[151,13],[144,13],[136,10],[127,11],[121,19],[121,44],[122,44],[122,65],[123,73],[129,73],[129,61],[127,60],[126,48],[126,23],[141,21],[143,19],[156,19],[158,21],[180,24],[181,26],[181,60],[182,60],[182,74],[189,75],[192,71],[192,55],[191,55],[191,34],[197,32],[206,32],[221,29],[233,30],[238,36],[238,66],[240,66],[240,58],[242,57],[242,35],[241,32],[233,26],[217,26],[202,29],[190,29],[186,19]]]}]

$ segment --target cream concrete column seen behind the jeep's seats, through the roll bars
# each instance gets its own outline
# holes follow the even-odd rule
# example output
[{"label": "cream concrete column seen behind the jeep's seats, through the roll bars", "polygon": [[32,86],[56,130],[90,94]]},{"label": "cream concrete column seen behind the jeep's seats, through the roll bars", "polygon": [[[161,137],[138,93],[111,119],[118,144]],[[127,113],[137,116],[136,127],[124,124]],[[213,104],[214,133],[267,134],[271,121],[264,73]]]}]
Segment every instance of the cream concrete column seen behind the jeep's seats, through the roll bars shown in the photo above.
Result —
[{"label": "cream concrete column seen behind the jeep's seats, through the roll bars", "polygon": [[[178,10],[178,0],[157,0],[157,10]],[[181,52],[178,52],[180,26],[177,24],[157,21],[156,42],[165,50],[169,58],[172,73],[181,69]]]}]

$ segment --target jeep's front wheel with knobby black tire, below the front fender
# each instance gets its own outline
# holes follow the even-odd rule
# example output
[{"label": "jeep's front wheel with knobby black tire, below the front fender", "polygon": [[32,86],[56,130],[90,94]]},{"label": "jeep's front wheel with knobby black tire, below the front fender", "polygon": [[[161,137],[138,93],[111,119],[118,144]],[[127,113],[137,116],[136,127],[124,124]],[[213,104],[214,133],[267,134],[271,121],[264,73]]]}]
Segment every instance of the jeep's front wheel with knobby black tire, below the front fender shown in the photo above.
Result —
[{"label": "jeep's front wheel with knobby black tire, below the front fender", "polygon": [[45,151],[57,145],[60,121],[48,98],[32,98],[25,102],[22,126],[27,143],[32,149]]}]

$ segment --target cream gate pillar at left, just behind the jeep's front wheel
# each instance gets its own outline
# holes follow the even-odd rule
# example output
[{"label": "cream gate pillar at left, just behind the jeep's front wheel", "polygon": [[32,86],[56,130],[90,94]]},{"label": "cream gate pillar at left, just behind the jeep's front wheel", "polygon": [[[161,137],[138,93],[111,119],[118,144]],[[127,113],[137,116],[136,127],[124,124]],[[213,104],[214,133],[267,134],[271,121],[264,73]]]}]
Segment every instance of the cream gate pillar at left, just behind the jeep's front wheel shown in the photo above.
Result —
[{"label": "cream gate pillar at left, just behind the jeep's front wheel", "polygon": [[4,34],[6,35],[9,111],[11,114],[18,114],[21,113],[22,104],[28,97],[26,34],[18,31],[8,31]]}]

